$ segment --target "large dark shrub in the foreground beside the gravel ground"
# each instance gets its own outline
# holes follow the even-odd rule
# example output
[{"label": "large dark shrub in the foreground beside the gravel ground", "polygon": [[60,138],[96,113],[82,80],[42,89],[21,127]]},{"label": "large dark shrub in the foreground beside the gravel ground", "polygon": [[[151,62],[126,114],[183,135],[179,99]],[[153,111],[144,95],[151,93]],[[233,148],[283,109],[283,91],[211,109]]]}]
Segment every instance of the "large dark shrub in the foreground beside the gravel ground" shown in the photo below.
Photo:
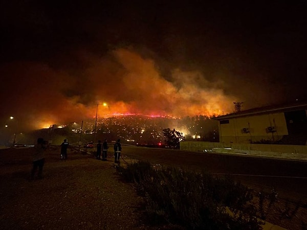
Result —
[{"label": "large dark shrub in the foreground beside the gravel ground", "polygon": [[137,182],[152,221],[186,229],[259,229],[249,188],[230,178],[176,168],[157,170],[148,162],[119,167],[129,182]]}]

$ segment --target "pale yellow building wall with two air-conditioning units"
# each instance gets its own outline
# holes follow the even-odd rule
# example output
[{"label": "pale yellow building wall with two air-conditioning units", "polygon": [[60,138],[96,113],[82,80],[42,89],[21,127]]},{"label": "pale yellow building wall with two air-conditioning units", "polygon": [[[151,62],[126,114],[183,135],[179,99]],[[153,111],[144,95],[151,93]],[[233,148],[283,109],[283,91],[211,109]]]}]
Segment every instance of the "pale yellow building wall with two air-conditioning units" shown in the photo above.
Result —
[{"label": "pale yellow building wall with two air-conditioning units", "polygon": [[[219,124],[221,143],[278,141],[283,135],[288,135],[287,123],[283,113],[261,114],[228,120],[229,124]],[[267,132],[268,127],[275,127],[276,131]],[[244,128],[248,129],[249,132],[244,132]]]}]

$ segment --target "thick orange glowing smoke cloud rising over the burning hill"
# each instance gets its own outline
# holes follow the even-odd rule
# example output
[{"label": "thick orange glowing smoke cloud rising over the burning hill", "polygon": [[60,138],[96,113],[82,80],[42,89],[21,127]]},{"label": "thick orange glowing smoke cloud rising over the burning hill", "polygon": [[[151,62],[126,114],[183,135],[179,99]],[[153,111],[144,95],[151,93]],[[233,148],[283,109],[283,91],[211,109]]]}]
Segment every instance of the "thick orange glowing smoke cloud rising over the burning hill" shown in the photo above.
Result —
[{"label": "thick orange glowing smoke cloud rising over the burning hill", "polygon": [[77,75],[37,62],[2,65],[7,79],[1,86],[6,92],[2,104],[9,108],[3,113],[23,120],[28,127],[42,128],[93,118],[98,103],[107,103],[99,105],[100,117],[118,113],[212,116],[232,111],[235,98],[226,96],[198,71],[176,69],[168,81],[155,61],[129,49],[90,59],[89,67]]}]

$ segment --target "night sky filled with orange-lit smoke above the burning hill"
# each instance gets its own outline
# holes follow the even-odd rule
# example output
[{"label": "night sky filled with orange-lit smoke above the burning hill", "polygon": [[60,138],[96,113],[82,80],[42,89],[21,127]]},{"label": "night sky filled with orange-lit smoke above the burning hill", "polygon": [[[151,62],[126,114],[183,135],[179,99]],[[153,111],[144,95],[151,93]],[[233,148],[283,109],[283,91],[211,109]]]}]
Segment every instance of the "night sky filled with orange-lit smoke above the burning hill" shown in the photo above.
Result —
[{"label": "night sky filled with orange-lit smoke above the burning hill", "polygon": [[307,99],[307,1],[0,3],[1,124]]}]

